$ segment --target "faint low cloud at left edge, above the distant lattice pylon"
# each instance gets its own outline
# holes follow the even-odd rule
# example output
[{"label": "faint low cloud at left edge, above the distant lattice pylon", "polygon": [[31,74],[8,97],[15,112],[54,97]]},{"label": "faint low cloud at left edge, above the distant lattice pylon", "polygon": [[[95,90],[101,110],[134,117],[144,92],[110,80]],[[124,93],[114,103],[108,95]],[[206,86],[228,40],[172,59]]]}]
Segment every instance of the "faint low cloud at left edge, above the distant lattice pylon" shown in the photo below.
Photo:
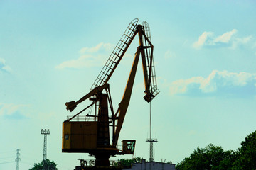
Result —
[{"label": "faint low cloud at left edge, above the distant lattice pylon", "polygon": [[4,116],[9,119],[23,119],[26,115],[23,114],[23,109],[28,107],[24,104],[14,103],[0,103],[0,116]]}]

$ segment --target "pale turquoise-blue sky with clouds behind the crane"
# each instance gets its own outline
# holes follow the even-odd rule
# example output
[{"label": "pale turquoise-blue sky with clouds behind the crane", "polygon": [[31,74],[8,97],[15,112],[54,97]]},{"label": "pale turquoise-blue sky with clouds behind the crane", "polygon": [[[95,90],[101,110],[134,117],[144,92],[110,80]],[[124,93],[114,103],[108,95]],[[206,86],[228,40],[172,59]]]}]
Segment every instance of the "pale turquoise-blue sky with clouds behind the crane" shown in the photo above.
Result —
[{"label": "pale turquoise-blue sky with clouds behind the crane", "polygon": [[[48,159],[74,169],[87,154],[61,153],[65,102],[90,91],[130,21],[151,28],[160,94],[152,101],[155,160],[180,162],[209,143],[238,149],[256,129],[255,1],[0,1],[0,169]],[[114,109],[138,46],[110,79]],[[141,63],[119,141],[149,159],[149,104]],[[81,104],[78,112],[87,105]],[[132,158],[112,157],[111,159]],[[5,163],[11,162],[11,163]]]}]

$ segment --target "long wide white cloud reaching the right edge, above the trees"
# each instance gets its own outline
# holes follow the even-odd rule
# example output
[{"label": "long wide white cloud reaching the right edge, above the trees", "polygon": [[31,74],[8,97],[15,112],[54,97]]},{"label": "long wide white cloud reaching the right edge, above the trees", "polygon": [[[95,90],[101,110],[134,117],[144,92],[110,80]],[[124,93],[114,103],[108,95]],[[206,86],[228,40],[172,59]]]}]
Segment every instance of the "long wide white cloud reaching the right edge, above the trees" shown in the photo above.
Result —
[{"label": "long wide white cloud reaching the right edge, above the trees", "polygon": [[256,73],[214,70],[206,78],[191,77],[172,82],[170,93],[188,96],[254,96],[256,95]]}]

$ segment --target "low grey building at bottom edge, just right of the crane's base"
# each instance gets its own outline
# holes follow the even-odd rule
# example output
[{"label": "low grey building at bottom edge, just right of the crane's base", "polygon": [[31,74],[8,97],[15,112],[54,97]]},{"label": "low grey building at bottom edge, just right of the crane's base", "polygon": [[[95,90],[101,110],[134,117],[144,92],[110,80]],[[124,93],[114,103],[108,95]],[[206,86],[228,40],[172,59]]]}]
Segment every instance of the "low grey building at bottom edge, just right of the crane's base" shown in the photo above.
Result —
[{"label": "low grey building at bottom edge, just right of the crane's base", "polygon": [[175,164],[167,164],[164,162],[146,162],[142,159],[142,163],[132,164],[132,168],[125,170],[149,170],[151,164],[151,170],[175,170]]}]

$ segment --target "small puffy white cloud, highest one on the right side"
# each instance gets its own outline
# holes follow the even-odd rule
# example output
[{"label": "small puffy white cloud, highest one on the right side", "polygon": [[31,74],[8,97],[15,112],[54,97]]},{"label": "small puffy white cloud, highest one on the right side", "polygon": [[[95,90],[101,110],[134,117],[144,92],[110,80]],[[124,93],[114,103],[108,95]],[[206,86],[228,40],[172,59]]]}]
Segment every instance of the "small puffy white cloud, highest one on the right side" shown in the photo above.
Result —
[{"label": "small puffy white cloud, highest one on the right side", "polygon": [[216,36],[213,32],[203,32],[199,36],[198,40],[193,43],[193,47],[200,49],[201,47],[223,47],[228,46],[231,48],[238,47],[238,45],[246,44],[252,38],[247,36],[245,38],[239,38],[237,36],[238,30],[233,29],[223,35]]}]

